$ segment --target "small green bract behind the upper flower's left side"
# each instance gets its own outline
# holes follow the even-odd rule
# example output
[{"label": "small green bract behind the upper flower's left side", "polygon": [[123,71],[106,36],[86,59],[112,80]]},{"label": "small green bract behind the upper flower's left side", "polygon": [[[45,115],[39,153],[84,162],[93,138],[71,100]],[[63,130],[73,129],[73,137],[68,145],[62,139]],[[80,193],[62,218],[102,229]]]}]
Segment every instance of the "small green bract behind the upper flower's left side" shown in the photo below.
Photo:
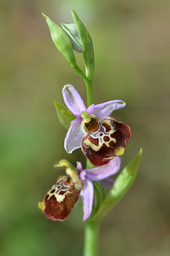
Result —
[{"label": "small green bract behind the upper flower's left side", "polygon": [[57,116],[59,118],[60,123],[69,130],[70,122],[73,121],[76,117],[70,112],[70,110],[62,105],[60,102],[54,100],[54,106],[57,111]]}]

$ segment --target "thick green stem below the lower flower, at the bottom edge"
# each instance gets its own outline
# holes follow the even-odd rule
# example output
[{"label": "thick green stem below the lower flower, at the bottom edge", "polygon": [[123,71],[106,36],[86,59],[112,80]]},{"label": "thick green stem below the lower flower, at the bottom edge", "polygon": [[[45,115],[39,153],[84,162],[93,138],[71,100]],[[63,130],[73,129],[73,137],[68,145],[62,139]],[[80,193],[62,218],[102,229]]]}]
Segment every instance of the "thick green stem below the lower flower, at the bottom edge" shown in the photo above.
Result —
[{"label": "thick green stem below the lower flower, at the bottom edge", "polygon": [[86,220],[83,256],[96,256],[98,245],[99,222]]}]

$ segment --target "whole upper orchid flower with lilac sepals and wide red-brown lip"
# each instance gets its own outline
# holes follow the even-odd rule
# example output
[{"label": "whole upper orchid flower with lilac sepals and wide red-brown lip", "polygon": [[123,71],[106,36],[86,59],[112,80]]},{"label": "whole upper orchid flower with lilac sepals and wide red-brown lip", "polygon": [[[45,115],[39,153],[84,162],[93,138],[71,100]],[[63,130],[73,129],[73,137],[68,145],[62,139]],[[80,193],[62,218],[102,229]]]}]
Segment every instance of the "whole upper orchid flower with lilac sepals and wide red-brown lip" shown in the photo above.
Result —
[{"label": "whole upper orchid flower with lilac sepals and wide red-brown lip", "polygon": [[108,164],[113,157],[122,155],[131,138],[128,125],[112,117],[113,110],[125,107],[122,100],[111,100],[88,108],[72,85],[63,88],[64,102],[75,118],[70,123],[64,148],[67,153],[81,147],[84,155],[95,165]]}]

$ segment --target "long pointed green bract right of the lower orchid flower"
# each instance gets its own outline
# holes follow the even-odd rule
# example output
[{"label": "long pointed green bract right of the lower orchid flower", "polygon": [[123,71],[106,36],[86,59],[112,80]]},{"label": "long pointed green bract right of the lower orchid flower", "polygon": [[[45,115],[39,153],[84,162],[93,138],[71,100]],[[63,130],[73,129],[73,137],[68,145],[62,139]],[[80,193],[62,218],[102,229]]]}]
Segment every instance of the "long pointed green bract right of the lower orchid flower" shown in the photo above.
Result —
[{"label": "long pointed green bract right of the lower orchid flower", "polygon": [[107,194],[103,204],[99,211],[94,216],[94,220],[101,220],[105,215],[111,211],[111,209],[123,198],[132,186],[135,178],[137,177],[140,161],[142,156],[142,148],[138,155],[123,169],[120,175],[118,175],[112,189]]}]

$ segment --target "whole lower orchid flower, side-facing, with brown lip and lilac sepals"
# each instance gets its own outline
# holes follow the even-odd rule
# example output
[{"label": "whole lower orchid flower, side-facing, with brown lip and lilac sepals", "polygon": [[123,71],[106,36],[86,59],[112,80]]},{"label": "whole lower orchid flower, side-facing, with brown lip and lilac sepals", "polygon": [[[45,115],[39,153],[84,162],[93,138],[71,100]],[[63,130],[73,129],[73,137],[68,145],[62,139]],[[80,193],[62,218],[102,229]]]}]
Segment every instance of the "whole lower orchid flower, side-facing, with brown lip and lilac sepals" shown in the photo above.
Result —
[{"label": "whole lower orchid flower, side-facing, with brown lip and lilac sepals", "polygon": [[83,169],[80,162],[77,169],[72,167],[68,161],[61,161],[56,166],[66,166],[67,176],[60,177],[53,187],[48,191],[39,207],[50,220],[61,220],[67,218],[73,206],[78,201],[78,195],[83,202],[83,221],[86,221],[92,211],[94,201],[94,185],[92,181],[107,179],[120,170],[121,158],[113,158],[109,164],[94,169]]}]

